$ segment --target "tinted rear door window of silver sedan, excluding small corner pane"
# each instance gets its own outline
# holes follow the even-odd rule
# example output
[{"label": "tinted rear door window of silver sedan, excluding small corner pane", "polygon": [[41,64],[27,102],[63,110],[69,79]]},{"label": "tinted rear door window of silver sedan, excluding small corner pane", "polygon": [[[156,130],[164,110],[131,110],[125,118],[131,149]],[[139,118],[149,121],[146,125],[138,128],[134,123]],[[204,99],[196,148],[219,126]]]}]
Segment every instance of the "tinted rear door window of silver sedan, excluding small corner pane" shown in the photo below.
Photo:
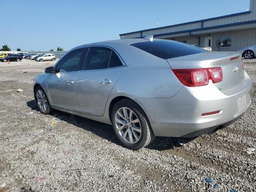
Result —
[{"label": "tinted rear door window of silver sedan, excluding small corner pane", "polygon": [[86,57],[84,70],[106,69],[111,49],[106,47],[90,47]]}]

